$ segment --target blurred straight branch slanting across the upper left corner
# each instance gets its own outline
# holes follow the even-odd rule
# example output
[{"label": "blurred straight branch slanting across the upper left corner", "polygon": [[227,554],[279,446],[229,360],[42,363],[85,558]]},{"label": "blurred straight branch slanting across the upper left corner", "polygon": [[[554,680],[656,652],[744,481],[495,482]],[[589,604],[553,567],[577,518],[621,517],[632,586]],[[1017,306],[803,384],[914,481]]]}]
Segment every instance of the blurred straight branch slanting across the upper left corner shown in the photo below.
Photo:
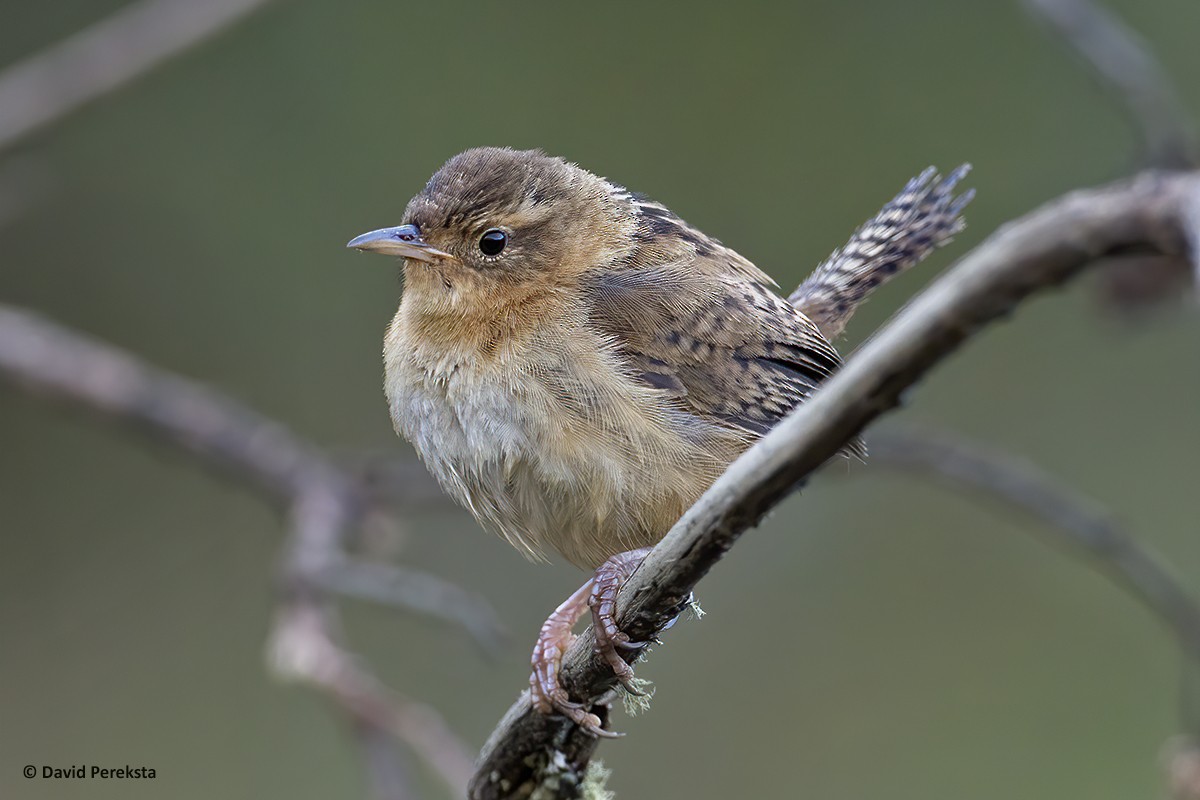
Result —
[{"label": "blurred straight branch slanting across the upper left corner", "polygon": [[0,150],[120,89],[269,0],[139,0],[0,72]]}]

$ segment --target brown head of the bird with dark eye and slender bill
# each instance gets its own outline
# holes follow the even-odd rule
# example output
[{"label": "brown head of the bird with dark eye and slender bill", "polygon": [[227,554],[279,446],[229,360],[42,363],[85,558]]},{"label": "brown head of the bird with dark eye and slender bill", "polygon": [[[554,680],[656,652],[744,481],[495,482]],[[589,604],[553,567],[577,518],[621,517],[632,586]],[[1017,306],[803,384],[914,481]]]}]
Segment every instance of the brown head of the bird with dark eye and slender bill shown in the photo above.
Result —
[{"label": "brown head of the bird with dark eye and slender bill", "polygon": [[402,223],[347,245],[404,259],[408,289],[480,303],[569,283],[634,246],[628,196],[538,150],[478,148],[430,179]]}]

